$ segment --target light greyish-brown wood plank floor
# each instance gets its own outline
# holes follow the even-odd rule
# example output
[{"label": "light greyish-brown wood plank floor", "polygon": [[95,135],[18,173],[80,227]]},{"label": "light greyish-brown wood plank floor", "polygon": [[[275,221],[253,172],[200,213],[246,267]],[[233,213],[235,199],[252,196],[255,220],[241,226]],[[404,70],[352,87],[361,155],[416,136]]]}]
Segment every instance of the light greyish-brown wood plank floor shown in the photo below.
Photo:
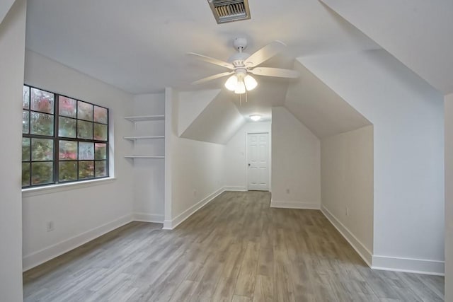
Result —
[{"label": "light greyish-brown wood plank floor", "polygon": [[320,211],[224,192],[174,231],[129,223],[25,272],[25,301],[443,301],[444,279],[369,269]]}]

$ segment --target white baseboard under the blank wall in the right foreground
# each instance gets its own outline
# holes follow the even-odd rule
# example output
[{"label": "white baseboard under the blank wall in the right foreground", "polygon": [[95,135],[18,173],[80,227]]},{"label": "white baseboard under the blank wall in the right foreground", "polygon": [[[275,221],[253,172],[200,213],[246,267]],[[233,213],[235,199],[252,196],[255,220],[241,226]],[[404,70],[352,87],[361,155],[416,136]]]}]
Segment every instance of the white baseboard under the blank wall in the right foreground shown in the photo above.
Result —
[{"label": "white baseboard under the blank wall in the right foreground", "polygon": [[373,255],[372,269],[445,276],[445,262]]}]

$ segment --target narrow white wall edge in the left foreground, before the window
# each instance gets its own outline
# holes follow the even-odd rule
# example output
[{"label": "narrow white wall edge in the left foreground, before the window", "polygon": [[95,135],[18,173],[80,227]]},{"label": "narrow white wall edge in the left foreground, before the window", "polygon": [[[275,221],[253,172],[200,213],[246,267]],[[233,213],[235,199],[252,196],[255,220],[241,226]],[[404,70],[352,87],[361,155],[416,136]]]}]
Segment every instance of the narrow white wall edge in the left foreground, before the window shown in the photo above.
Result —
[{"label": "narrow white wall edge in the left foreground, before the window", "polygon": [[26,1],[18,0],[0,24],[0,141],[4,146],[0,151],[0,301],[11,302],[23,300],[21,99],[25,12]]}]

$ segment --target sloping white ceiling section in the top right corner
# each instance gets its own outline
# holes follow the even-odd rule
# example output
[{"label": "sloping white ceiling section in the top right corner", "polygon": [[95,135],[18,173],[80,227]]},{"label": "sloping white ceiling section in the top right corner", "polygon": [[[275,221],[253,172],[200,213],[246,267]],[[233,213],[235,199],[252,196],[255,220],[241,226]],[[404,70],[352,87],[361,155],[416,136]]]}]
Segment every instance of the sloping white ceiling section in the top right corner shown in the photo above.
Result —
[{"label": "sloping white ceiling section in the top right corner", "polygon": [[453,93],[452,0],[321,0],[431,86]]}]

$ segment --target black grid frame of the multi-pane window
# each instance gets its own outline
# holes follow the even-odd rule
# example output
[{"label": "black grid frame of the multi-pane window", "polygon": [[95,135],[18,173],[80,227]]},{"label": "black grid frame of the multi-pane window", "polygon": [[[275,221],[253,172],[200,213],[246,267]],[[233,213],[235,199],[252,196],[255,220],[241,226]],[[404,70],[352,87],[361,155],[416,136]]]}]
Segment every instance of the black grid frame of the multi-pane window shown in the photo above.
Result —
[{"label": "black grid frame of the multi-pane window", "polygon": [[[22,138],[27,138],[29,139],[30,142],[30,150],[29,150],[29,157],[27,161],[21,161],[21,163],[28,163],[28,168],[29,168],[29,176],[28,176],[28,185],[22,186],[23,190],[28,190],[28,189],[33,189],[36,187],[45,187],[45,186],[55,186],[59,184],[69,184],[69,183],[80,183],[84,181],[93,181],[93,180],[101,180],[105,178],[110,178],[110,110],[109,108],[106,108],[102,105],[97,105],[91,102],[87,102],[86,100],[80,100],[79,98],[72,98],[67,95],[64,95],[62,93],[55,93],[52,91],[47,91],[46,89],[38,88],[32,85],[29,85],[27,83],[23,84],[23,87],[28,87],[28,108],[22,108],[23,112],[28,112],[28,133],[22,133]],[[47,113],[47,112],[40,112],[37,110],[32,110],[32,89],[38,89],[39,91],[44,91],[45,93],[50,93],[53,95],[54,98],[54,104],[53,104],[53,113]],[[24,95],[23,95],[24,96]],[[22,98],[23,98],[22,96]],[[65,115],[59,115],[59,98],[69,98],[71,100],[76,101],[76,116],[75,117],[68,117]],[[86,119],[79,119],[79,102],[87,103],[92,106],[92,114],[91,114],[91,119],[92,120],[86,120]],[[106,123],[103,124],[102,122],[95,122],[94,120],[94,112],[95,112],[95,107],[98,108],[103,108],[107,111],[107,117],[106,117]],[[31,133],[31,112],[38,112],[38,113],[47,113],[49,115],[52,115],[53,117],[53,135],[52,136],[46,136],[42,134],[32,134]],[[65,117],[67,119],[75,120],[76,124],[76,133],[75,137],[59,137],[59,118],[60,117]],[[85,122],[91,122],[91,132],[92,132],[92,139],[83,139],[79,138],[79,121],[85,121]],[[94,129],[96,124],[101,124],[104,125],[107,128],[107,137],[106,140],[99,140],[95,139],[94,137]],[[49,161],[33,161],[32,158],[32,140],[33,139],[50,139],[52,140],[52,146],[53,146],[53,154],[52,154],[52,160]],[[74,141],[77,144],[77,151],[76,151],[76,159],[75,160],[60,160],[59,159],[59,145],[60,141]],[[81,142],[86,142],[86,143],[91,143],[93,144],[93,159],[88,159],[88,160],[81,160],[79,159],[79,143]],[[98,159],[96,160],[96,144],[105,144],[105,159]],[[75,162],[76,163],[76,180],[59,180],[59,163],[60,161],[62,162]],[[93,161],[93,177],[90,178],[79,178],[79,165],[81,161]],[[99,161],[104,161],[105,162],[105,175],[96,177],[96,162]],[[32,165],[33,163],[52,163],[52,182],[46,182],[46,183],[41,183],[37,185],[33,185],[32,179],[33,179],[33,173],[32,173]]]}]

